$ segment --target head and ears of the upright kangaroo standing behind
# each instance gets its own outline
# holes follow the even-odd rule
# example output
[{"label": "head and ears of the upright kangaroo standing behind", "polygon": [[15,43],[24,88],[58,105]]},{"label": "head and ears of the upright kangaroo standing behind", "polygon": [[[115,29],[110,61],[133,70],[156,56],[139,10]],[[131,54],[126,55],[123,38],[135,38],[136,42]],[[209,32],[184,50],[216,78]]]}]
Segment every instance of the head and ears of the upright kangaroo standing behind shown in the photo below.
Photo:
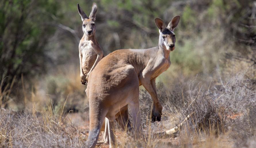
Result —
[{"label": "head and ears of the upright kangaroo standing behind", "polygon": [[87,15],[84,13],[84,11],[81,9],[81,7],[79,6],[79,4],[77,4],[77,8],[78,8],[78,12],[82,18],[83,21],[83,32],[86,36],[92,36],[95,34],[96,31],[96,26],[95,26],[95,16],[96,16],[96,12],[97,12],[97,5],[96,3],[92,4],[92,8],[91,8],[91,14],[89,16],[89,18],[87,17]]}]

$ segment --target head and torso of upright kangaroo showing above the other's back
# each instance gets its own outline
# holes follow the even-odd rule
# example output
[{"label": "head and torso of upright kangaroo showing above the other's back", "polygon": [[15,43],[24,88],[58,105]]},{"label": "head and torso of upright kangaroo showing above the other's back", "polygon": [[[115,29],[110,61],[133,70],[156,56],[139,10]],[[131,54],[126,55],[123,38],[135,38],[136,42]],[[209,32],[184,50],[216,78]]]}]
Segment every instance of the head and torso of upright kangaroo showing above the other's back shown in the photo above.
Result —
[{"label": "head and torso of upright kangaroo showing above the other's back", "polygon": [[86,84],[88,76],[103,57],[103,51],[95,38],[95,16],[97,5],[93,3],[89,18],[77,4],[78,12],[83,21],[83,37],[79,43],[80,77],[82,84]]}]

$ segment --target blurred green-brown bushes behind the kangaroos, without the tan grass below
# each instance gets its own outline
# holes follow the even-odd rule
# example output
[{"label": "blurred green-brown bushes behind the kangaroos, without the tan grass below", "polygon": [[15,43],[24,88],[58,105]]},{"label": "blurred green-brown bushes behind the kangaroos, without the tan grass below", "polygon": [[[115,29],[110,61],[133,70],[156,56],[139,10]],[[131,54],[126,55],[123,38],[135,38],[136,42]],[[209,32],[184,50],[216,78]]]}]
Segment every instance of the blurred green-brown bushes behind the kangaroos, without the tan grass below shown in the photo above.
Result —
[{"label": "blurred green-brown bushes behind the kangaroos, without the tan grass below", "polygon": [[[228,51],[224,47],[230,49],[234,45],[237,48],[233,50],[240,52],[255,49],[256,29],[251,27],[255,26],[255,19],[251,17],[250,0],[93,2],[98,5],[96,38],[105,55],[120,48],[156,47],[159,34],[154,18],[162,18],[167,24],[173,16],[180,15],[175,29],[176,49],[171,52],[172,65],[166,73],[181,70],[180,73],[188,76],[211,72],[223,58],[223,52]],[[48,68],[56,69],[67,62],[79,64],[78,42],[83,32],[77,3],[89,16],[92,1],[0,2],[0,68],[1,75],[8,76],[1,90],[15,75],[18,81],[21,74],[30,80]],[[59,24],[69,27],[73,33]],[[74,39],[74,34],[79,37]]]}]

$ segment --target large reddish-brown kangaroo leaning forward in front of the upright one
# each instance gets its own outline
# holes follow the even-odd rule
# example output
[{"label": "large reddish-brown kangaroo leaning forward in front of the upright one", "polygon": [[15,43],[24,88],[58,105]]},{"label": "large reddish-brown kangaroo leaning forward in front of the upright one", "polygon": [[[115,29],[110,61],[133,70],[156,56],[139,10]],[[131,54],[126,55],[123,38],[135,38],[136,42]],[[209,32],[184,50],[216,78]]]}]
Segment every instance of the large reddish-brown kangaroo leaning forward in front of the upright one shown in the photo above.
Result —
[{"label": "large reddish-brown kangaroo leaning forward in front of the upright one", "polygon": [[108,118],[110,147],[116,147],[114,120],[126,105],[131,109],[135,135],[139,136],[139,132],[142,132],[139,85],[143,85],[150,93],[155,105],[153,114],[157,120],[161,119],[162,106],[157,98],[155,80],[171,64],[169,54],[175,49],[173,30],[178,25],[179,18],[175,16],[167,27],[163,20],[155,19],[160,33],[158,47],[116,50],[96,65],[89,75],[86,90],[90,129],[85,147],[95,147],[105,117]]}]

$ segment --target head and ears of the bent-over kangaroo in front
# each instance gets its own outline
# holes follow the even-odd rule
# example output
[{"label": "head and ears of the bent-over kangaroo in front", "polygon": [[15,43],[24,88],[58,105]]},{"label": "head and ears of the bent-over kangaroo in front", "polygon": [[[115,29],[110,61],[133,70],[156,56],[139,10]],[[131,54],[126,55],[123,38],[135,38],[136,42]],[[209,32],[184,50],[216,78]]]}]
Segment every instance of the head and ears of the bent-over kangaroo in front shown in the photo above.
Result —
[{"label": "head and ears of the bent-over kangaroo in front", "polygon": [[174,28],[179,23],[179,16],[175,16],[168,26],[165,27],[165,23],[160,18],[155,18],[156,26],[159,29],[159,45],[161,47],[166,47],[167,50],[173,51],[175,49],[175,34]]}]

